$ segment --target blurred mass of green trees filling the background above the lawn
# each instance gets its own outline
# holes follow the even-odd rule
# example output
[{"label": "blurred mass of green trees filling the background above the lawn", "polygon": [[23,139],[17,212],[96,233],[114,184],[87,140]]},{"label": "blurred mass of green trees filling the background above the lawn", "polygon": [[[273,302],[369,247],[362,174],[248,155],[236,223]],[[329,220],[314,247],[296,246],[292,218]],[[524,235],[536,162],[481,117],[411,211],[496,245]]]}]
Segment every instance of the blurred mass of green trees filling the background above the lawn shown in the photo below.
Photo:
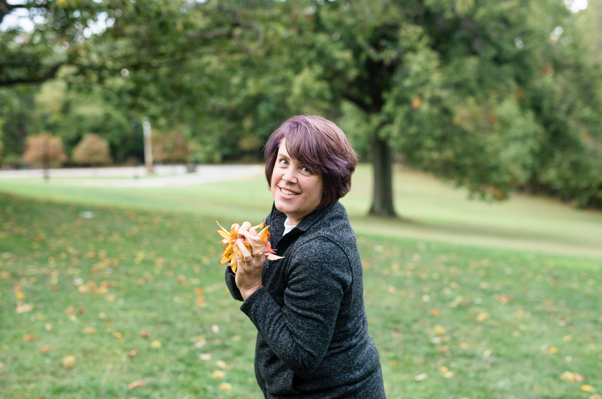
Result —
[{"label": "blurred mass of green trees filling the background above the lawn", "polygon": [[[37,129],[54,123],[67,147],[99,133],[118,159],[117,149],[137,134],[129,120],[148,116],[190,141],[189,159],[257,157],[282,120],[316,113],[340,123],[373,162],[375,214],[395,213],[394,159],[486,198],[522,189],[602,206],[600,59],[592,55],[600,41],[591,34],[591,7],[571,13],[559,0],[35,4],[45,20],[33,32],[0,34],[0,55],[15,57],[2,58],[11,61],[0,65],[0,84],[26,91],[14,84],[63,71],[63,104],[72,106]],[[103,18],[107,31],[85,38]],[[82,96],[104,111],[77,110],[81,103],[69,99]],[[4,115],[17,105],[5,105]],[[140,149],[128,151],[120,159]]]}]

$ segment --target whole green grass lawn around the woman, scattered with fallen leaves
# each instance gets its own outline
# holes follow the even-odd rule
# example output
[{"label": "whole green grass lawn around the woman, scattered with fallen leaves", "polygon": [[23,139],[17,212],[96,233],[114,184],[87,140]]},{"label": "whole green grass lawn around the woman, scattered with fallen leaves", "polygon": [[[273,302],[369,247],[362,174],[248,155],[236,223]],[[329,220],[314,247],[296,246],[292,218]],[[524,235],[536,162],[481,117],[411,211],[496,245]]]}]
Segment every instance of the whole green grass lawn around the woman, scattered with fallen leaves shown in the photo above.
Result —
[{"label": "whole green grass lawn around the woman, scattered with fallen leaves", "polygon": [[[411,221],[373,220],[367,174],[358,170],[344,204],[389,398],[600,398],[600,214],[544,199],[470,202],[407,172],[397,208]],[[216,218],[264,217],[264,184],[3,181],[45,199],[0,194],[0,397],[262,397],[256,330],[216,270],[213,230]],[[232,187],[244,206],[223,195]]]}]

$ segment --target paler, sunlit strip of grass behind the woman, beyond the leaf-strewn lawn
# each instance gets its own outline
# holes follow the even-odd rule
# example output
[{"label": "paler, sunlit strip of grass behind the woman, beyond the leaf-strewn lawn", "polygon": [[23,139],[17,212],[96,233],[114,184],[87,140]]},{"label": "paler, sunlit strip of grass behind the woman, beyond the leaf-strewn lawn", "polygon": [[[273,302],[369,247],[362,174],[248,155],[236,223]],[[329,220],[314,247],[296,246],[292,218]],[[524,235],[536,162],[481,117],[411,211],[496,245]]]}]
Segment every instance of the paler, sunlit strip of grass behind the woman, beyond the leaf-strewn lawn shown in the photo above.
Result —
[{"label": "paler, sunlit strip of grass behind the woman, beyond the leaf-strewn lawn", "polygon": [[[70,203],[183,211],[229,220],[261,220],[272,206],[272,196],[261,175],[234,182],[167,188],[73,187],[64,185],[64,180],[2,180],[0,191]],[[356,232],[602,258],[602,212],[520,194],[502,203],[468,200],[467,191],[408,169],[396,170],[394,187],[396,209],[403,218],[367,218],[371,169],[359,165],[352,191],[342,200]]]}]

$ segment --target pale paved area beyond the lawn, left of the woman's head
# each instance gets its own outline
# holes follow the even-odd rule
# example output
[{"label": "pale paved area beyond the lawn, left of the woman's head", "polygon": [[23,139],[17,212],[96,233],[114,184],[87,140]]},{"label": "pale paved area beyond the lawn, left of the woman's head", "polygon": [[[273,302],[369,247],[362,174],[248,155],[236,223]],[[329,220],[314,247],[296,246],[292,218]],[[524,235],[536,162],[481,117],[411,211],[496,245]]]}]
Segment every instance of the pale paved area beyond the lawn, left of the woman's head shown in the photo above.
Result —
[{"label": "pale paved area beyond the lawn, left of the woman's head", "polygon": [[[49,176],[57,179],[55,184],[78,187],[176,187],[258,175],[263,172],[263,168],[260,165],[199,165],[196,172],[186,172],[185,165],[157,165],[157,177],[149,177],[146,169],[141,166],[50,169]],[[0,180],[42,177],[42,169],[0,171]]]}]

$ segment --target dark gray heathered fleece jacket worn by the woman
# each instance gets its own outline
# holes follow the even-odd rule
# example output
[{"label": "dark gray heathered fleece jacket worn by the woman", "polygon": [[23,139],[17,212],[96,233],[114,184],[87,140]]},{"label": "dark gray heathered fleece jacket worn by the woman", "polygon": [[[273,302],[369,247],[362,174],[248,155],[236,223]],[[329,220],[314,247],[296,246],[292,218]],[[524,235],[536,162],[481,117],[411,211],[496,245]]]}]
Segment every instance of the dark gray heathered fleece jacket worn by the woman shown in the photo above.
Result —
[{"label": "dark gray heathered fleece jacket worn by the woman", "polygon": [[[265,398],[385,398],[379,354],[368,334],[362,264],[340,202],[307,215],[282,237],[272,207],[263,287],[240,307],[257,327],[255,376]],[[231,268],[226,284],[243,300]]]}]

